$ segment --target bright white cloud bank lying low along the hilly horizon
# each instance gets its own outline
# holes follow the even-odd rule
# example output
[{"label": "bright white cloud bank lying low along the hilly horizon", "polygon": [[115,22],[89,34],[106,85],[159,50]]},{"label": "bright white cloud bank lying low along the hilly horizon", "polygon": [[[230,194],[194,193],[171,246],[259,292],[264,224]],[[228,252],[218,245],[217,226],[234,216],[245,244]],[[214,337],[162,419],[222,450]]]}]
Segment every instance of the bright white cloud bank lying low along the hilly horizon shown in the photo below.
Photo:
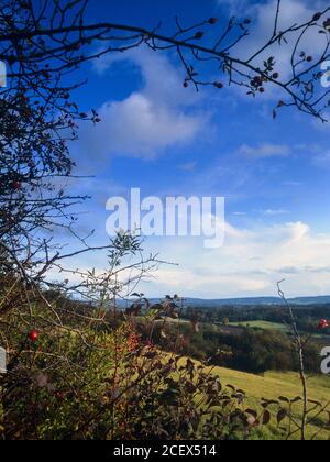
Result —
[{"label": "bright white cloud bank lying low along the hilly horizon", "polygon": [[152,295],[226,298],[276,295],[276,283],[287,277],[290,296],[330,293],[330,235],[312,233],[308,224],[241,230],[227,224],[224,246],[213,251],[196,239],[158,239],[161,255],[179,263],[162,267],[155,282],[143,287]]}]

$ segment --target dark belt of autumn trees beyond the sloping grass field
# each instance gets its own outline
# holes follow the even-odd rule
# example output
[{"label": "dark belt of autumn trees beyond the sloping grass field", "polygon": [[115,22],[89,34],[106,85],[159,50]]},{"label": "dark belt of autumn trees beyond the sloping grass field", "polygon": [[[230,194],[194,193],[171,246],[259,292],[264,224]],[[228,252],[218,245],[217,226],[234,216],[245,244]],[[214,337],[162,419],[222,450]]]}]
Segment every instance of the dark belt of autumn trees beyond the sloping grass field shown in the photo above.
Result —
[{"label": "dark belt of autumn trees beyond the sloping grass field", "polygon": [[[258,326],[258,321],[256,321]],[[271,324],[272,326],[272,324]],[[270,328],[268,324],[266,324]],[[284,326],[283,326],[284,327]],[[222,327],[200,323],[198,331],[187,322],[179,323],[185,338],[183,354],[188,354],[213,365],[237,371],[264,373],[267,371],[298,371],[292,337],[286,329],[255,329],[255,327]],[[175,344],[177,327],[173,321],[166,324],[166,341],[161,336],[161,323],[154,330],[154,338],[162,348]],[[316,336],[317,330],[316,330]],[[305,364],[309,373],[320,373],[319,352],[327,345],[326,338],[309,338],[305,349]],[[172,342],[170,342],[172,339]]]}]

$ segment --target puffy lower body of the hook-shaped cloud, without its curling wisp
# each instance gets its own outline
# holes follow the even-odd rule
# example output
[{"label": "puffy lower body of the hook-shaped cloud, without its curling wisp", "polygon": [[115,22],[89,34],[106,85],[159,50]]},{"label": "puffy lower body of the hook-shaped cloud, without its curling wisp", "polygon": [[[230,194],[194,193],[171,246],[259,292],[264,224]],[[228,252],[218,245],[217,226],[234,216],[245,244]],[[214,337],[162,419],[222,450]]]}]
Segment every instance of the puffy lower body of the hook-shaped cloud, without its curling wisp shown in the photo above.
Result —
[{"label": "puffy lower body of the hook-shaped cloud, without its curling wisp", "polygon": [[143,94],[107,102],[97,127],[82,131],[80,145],[94,157],[130,155],[152,158],[166,147],[191,141],[202,125],[199,117],[160,106]]}]

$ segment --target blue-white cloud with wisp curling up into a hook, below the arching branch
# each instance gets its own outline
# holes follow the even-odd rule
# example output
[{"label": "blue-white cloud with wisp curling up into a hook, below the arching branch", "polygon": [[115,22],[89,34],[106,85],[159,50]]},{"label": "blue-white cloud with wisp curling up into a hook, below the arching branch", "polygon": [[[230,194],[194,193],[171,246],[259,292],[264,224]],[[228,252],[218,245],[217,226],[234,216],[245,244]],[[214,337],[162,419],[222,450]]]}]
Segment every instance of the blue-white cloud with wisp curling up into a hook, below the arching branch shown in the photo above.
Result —
[{"label": "blue-white cloud with wisp curling up into a hook, below the arching branch", "polygon": [[144,87],[125,100],[99,108],[101,123],[80,133],[80,152],[97,158],[129,155],[152,158],[167,147],[190,143],[204,128],[207,114],[196,112],[198,96],[183,88],[179,72],[164,55],[139,50],[105,57],[95,69],[105,73],[116,62],[128,59],[141,68]]}]

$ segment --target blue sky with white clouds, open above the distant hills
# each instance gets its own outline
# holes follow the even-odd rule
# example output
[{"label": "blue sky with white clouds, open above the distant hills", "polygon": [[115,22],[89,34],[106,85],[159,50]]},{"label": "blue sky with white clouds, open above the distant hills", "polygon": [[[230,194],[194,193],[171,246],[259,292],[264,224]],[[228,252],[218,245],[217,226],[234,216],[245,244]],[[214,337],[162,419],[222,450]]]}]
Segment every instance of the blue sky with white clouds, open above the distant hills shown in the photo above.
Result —
[{"label": "blue sky with white clouds, open above the distant hills", "polygon": [[[312,3],[283,0],[280,24],[311,18],[324,6]],[[249,15],[252,36],[238,51],[244,54],[270,33],[274,12],[274,0],[91,0],[88,15],[90,22],[145,28],[162,20],[165,31],[176,15],[186,24],[217,16],[217,28],[230,14]],[[311,52],[317,45],[306,44]],[[287,57],[280,48],[282,75]],[[146,253],[177,265],[161,266],[141,292],[148,297],[273,296],[276,282],[285,278],[288,296],[330,294],[330,124],[290,108],[274,121],[278,95],[272,91],[253,100],[238,88],[186,89],[177,56],[146,47],[108,55],[80,74],[88,82],[75,99],[102,120],[96,128],[82,124],[70,147],[77,173],[94,176],[69,185],[92,195],[81,209],[80,232],[92,228],[92,242],[107,242],[106,202],[128,197],[131,188],[141,188],[143,197],[226,198],[222,248],[205,249],[202,238],[146,239]],[[84,255],[75,265],[100,271],[105,255]]]}]

